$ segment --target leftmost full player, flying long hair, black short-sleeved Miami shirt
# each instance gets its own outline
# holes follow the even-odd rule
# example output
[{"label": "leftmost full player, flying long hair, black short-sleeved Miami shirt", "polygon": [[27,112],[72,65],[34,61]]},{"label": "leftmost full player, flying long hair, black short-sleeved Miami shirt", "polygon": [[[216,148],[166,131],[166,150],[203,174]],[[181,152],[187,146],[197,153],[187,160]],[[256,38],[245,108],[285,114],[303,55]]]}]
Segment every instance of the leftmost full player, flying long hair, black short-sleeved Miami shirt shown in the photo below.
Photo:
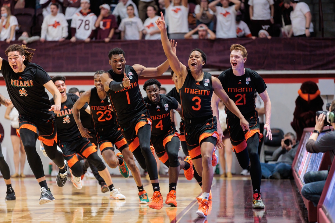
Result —
[{"label": "leftmost full player, flying long hair, black short-sleeved Miami shirt", "polygon": [[[55,200],[48,188],[40,156],[36,152],[36,140],[43,142],[48,157],[59,167],[58,187],[66,182],[66,166],[63,154],[57,150],[56,123],[54,111],[59,114],[61,95],[44,69],[30,63],[35,51],[22,45],[9,46],[5,54],[8,61],[0,58],[0,70],[5,79],[7,91],[14,107],[19,112],[19,130],[27,160],[41,186],[39,204]],[[45,88],[53,95],[56,103],[51,105]]]}]

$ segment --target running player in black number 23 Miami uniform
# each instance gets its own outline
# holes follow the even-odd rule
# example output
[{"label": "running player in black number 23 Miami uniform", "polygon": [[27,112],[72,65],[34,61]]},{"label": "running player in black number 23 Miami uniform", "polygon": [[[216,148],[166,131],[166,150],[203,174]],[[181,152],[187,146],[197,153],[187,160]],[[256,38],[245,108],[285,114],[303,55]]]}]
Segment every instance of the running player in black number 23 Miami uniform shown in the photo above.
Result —
[{"label": "running player in black number 23 Miami uniform", "polygon": [[[140,203],[147,204],[149,202],[148,194],[143,189],[140,170],[135,164],[134,156],[129,151],[127,141],[124,139],[119,126],[114,123],[114,112],[110,110],[111,101],[107,97],[104,85],[100,80],[103,73],[105,71],[97,71],[94,74],[95,87],[82,93],[79,100],[73,105],[74,119],[81,135],[85,138],[92,138],[89,130],[83,127],[79,113],[79,109],[88,103],[94,122],[96,141],[104,160],[111,168],[119,166],[120,173],[124,178],[129,177],[127,167],[129,166],[138,188]],[[120,151],[116,155],[114,147]]]}]

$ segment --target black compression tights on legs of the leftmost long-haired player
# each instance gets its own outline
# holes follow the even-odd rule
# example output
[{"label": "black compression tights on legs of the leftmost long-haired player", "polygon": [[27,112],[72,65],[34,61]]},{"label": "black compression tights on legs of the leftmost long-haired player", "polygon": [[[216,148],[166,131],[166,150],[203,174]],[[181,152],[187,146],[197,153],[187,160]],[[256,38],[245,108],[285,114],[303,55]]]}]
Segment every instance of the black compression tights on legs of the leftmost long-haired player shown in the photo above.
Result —
[{"label": "black compression tights on legs of the leftmost long-haired player", "polygon": [[[43,165],[39,154],[36,151],[36,140],[38,135],[29,129],[20,129],[20,137],[23,143],[29,166],[36,179],[44,176]],[[58,167],[64,166],[63,154],[57,150],[57,144],[47,146],[43,143],[44,150],[48,157],[54,161]]]}]

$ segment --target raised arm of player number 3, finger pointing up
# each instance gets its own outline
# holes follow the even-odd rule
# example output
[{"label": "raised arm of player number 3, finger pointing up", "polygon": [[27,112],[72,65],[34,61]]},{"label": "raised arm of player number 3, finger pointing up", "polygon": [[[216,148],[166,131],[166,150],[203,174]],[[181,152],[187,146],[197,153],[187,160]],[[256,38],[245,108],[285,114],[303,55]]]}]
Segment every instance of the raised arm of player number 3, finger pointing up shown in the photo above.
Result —
[{"label": "raised arm of player number 3, finger pointing up", "polygon": [[160,15],[161,18],[157,19],[156,24],[160,30],[160,36],[165,56],[167,57],[167,60],[169,60],[171,69],[175,72],[177,76],[183,75],[183,73],[185,73],[186,75],[187,68],[178,60],[177,55],[173,53],[169,38],[167,38],[164,15],[162,12],[160,13]]}]

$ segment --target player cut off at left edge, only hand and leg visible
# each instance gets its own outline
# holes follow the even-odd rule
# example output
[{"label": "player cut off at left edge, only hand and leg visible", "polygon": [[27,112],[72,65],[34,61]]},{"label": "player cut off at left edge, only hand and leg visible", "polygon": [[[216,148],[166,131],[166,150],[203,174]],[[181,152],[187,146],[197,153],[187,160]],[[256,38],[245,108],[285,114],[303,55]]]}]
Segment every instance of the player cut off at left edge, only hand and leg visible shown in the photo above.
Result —
[{"label": "player cut off at left edge, only hand and leg visible", "polygon": [[[0,94],[0,103],[8,107],[12,102]],[[0,135],[0,139],[1,137],[2,135]],[[3,157],[2,150],[1,150],[1,144],[0,144],[0,172],[7,186],[5,201],[15,200],[16,197],[15,197],[14,189],[12,188],[12,182],[10,180],[9,166],[6,163],[5,158]]]}]

